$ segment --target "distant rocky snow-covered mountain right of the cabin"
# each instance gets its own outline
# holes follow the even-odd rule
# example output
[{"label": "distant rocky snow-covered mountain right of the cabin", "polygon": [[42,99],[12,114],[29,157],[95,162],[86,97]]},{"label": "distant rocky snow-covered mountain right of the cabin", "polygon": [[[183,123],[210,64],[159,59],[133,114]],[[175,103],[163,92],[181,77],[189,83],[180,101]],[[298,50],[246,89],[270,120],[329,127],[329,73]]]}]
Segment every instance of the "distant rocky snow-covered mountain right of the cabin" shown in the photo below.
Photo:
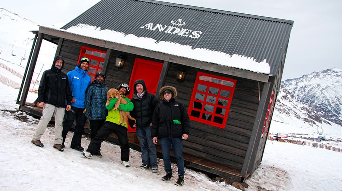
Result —
[{"label": "distant rocky snow-covered mountain right of the cabin", "polygon": [[341,69],[332,68],[288,79],[282,82],[282,86],[294,99],[311,105],[321,118],[342,125]]}]

